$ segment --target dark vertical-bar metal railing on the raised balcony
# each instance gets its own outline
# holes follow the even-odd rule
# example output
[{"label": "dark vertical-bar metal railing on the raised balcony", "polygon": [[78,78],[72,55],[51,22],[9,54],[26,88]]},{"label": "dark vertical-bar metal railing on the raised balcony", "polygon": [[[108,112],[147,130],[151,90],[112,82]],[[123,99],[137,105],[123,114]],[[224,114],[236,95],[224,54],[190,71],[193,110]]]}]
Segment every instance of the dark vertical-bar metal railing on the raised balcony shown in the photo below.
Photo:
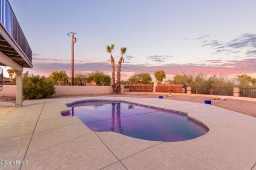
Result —
[{"label": "dark vertical-bar metal railing on the raised balcony", "polygon": [[32,62],[32,51],[8,0],[0,0],[0,22]]}]

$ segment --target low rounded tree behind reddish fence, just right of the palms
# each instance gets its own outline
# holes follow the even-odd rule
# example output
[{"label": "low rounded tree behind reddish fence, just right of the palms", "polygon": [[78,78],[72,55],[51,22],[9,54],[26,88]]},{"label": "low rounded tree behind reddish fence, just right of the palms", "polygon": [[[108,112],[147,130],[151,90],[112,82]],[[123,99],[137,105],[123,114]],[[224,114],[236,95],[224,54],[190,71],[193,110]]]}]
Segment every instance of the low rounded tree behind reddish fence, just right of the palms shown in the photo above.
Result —
[{"label": "low rounded tree behind reddish fence, just right of the palms", "polygon": [[150,84],[152,78],[148,73],[135,73],[130,78],[131,84]]}]

